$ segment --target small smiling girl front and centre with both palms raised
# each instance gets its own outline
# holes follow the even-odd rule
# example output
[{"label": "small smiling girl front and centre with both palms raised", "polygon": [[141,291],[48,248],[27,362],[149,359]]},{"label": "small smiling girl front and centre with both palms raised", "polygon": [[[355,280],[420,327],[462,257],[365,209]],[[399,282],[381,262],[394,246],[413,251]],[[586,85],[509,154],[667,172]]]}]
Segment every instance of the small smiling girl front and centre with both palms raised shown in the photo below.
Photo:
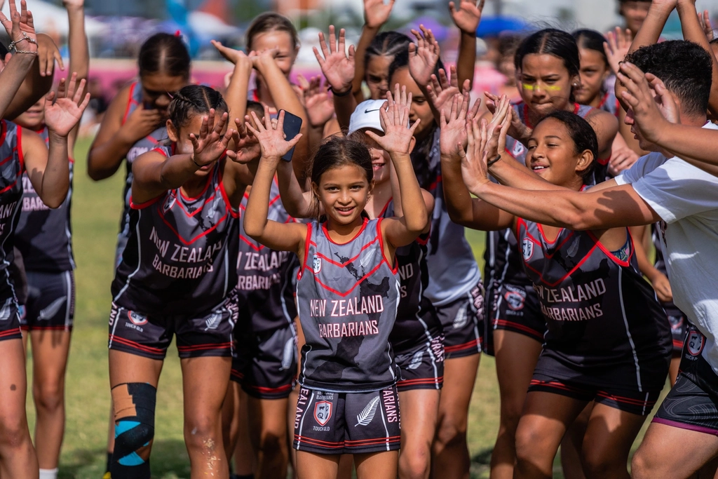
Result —
[{"label": "small smiling girl front and centre with both palms raised", "polygon": [[[391,98],[391,96],[390,96]],[[391,103],[391,101],[390,101]],[[248,128],[262,159],[247,205],[246,233],[270,248],[294,251],[299,320],[306,338],[294,422],[297,475],[335,478],[342,453],[354,455],[360,478],[395,478],[399,446],[396,379],[388,336],[400,294],[396,248],[416,240],[427,217],[409,147],[418,125],[407,129],[409,109],[382,111],[386,134],[368,133],[391,152],[405,215],[369,220],[364,208],[373,189],[368,149],[334,138],[314,155],[310,177],[317,216],[309,225],[267,220],[269,190],[280,157],[298,138],[276,129]],[[298,185],[295,185],[298,187]]]}]

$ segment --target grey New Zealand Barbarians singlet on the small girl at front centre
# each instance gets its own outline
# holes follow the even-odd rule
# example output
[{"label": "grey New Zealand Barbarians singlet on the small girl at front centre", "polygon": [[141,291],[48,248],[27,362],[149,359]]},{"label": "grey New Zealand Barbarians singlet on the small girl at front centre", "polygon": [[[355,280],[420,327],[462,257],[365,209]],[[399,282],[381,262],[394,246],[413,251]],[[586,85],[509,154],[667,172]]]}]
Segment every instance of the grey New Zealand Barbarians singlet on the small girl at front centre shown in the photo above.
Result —
[{"label": "grey New Zealand Barbarians singlet on the small girl at front centre", "polygon": [[299,383],[334,392],[378,391],[399,377],[389,334],[396,320],[399,274],[383,252],[381,221],[368,220],[337,244],[326,223],[307,225],[297,307],[307,343]]}]

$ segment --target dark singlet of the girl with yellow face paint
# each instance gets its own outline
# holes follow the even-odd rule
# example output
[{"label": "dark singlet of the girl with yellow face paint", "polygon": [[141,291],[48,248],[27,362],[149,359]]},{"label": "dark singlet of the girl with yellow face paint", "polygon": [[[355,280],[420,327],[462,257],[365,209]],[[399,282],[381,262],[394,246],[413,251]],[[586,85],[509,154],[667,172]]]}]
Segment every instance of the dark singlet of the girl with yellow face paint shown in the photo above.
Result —
[{"label": "dark singlet of the girl with yellow face paint", "polygon": [[[528,105],[518,103],[513,106],[523,124],[533,128],[528,120]],[[575,103],[574,113],[581,118],[591,113],[595,108]],[[516,139],[506,137],[506,152],[521,164],[526,164],[528,149]],[[599,164],[596,165],[600,166]],[[598,174],[600,175],[600,173]],[[521,254],[519,253],[516,236],[510,228],[501,231],[488,231],[486,233],[486,251],[484,254],[484,275],[495,286],[501,284],[515,284],[517,286],[530,286],[531,280],[523,272]]]}]

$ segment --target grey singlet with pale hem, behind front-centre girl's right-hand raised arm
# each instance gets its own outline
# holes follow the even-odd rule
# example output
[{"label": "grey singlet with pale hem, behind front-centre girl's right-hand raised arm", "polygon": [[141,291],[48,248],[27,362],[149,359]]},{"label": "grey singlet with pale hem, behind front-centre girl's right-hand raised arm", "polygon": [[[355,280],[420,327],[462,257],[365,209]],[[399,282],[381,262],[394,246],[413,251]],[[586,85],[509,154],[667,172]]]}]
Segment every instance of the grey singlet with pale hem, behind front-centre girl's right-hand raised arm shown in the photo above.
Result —
[{"label": "grey singlet with pale hem, behind front-centre girl's right-hand raised arm", "polygon": [[434,306],[444,306],[464,296],[481,281],[474,253],[464,236],[464,227],[449,218],[444,201],[439,134],[439,129],[435,129],[432,143],[426,145],[430,148],[416,148],[411,154],[419,185],[434,195],[432,232],[426,256],[429,286],[425,292]]}]

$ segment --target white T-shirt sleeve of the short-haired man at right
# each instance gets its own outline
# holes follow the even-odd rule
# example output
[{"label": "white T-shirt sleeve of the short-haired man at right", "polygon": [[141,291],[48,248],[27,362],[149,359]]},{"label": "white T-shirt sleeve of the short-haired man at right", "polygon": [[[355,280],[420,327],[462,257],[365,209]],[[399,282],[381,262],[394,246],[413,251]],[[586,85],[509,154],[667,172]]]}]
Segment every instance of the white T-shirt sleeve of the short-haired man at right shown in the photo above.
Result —
[{"label": "white T-shirt sleeve of the short-haired man at right", "polygon": [[718,209],[718,177],[677,157],[630,183],[666,223]]}]

